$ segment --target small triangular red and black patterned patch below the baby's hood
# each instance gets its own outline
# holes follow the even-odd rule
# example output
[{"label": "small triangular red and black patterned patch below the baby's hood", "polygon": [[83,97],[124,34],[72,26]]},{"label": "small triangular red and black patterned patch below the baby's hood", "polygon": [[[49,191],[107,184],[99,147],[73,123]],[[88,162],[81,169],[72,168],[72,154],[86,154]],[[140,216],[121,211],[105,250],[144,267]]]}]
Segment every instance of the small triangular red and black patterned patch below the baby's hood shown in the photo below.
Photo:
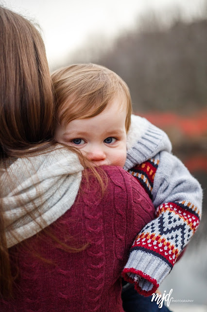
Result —
[{"label": "small triangular red and black patterned patch below the baby's hood", "polygon": [[159,164],[159,159],[151,158],[140,165],[133,167],[128,172],[134,176],[147,194],[152,199],[154,177]]}]

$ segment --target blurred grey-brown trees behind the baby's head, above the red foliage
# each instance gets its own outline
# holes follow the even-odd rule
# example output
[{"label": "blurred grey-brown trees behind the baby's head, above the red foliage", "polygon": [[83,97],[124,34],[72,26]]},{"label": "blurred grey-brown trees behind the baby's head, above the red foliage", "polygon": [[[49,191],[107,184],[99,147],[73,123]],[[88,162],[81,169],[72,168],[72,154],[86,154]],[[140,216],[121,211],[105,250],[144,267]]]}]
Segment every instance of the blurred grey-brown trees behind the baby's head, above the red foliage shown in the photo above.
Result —
[{"label": "blurred grey-brown trees behind the baby's head, above the red foliage", "polygon": [[190,114],[207,104],[207,19],[173,25],[153,12],[113,45],[102,36],[70,56],[70,63],[96,62],[128,84],[136,113],[159,111]]}]

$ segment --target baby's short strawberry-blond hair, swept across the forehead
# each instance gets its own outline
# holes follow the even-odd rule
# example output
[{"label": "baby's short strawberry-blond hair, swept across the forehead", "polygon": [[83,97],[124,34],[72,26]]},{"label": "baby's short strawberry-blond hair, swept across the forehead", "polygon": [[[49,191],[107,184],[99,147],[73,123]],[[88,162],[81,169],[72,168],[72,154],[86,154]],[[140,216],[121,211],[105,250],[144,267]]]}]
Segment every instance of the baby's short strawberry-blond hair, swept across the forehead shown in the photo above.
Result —
[{"label": "baby's short strawberry-blond hair, swept across the forehead", "polygon": [[110,101],[119,97],[126,106],[126,131],[129,130],[132,103],[127,84],[116,73],[96,64],[73,64],[52,73],[57,119],[90,118],[104,111]]}]

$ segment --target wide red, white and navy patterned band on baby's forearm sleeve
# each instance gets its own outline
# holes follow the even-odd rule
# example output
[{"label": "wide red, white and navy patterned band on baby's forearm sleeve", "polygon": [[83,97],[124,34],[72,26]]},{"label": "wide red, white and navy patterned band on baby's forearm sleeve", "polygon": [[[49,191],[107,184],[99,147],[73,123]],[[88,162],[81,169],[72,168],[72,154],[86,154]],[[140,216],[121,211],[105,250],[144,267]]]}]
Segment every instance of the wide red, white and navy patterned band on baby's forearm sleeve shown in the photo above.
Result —
[{"label": "wide red, white and navy patterned band on baby's forearm sleeve", "polygon": [[[160,205],[158,222],[151,221],[138,234],[131,250],[144,250],[160,257],[171,268],[199,225],[199,216],[175,203]],[[147,232],[146,232],[147,231]]]}]

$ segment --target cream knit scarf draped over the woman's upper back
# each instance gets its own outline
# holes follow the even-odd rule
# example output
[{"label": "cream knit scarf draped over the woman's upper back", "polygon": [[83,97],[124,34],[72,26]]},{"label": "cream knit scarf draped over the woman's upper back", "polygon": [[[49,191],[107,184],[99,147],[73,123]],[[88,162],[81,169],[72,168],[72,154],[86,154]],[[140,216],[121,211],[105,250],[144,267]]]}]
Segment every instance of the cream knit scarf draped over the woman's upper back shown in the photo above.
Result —
[{"label": "cream knit scarf draped over the woman's upper back", "polygon": [[72,206],[82,170],[76,154],[55,148],[18,158],[6,173],[0,172],[8,247],[38,233]]}]

